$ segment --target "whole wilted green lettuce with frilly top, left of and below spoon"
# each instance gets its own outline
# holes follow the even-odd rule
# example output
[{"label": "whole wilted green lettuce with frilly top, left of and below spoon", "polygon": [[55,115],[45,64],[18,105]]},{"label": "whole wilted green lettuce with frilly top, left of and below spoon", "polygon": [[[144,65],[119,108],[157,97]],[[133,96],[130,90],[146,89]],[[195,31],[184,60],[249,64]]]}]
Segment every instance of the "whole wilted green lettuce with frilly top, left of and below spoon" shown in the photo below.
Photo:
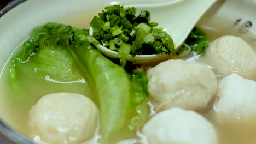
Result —
[{"label": "whole wilted green lettuce with frilly top, left of and below spoon", "polygon": [[[38,68],[40,76],[50,75],[55,80],[65,81],[82,76],[95,90],[92,99],[100,107],[103,142],[120,140],[124,138],[120,136],[121,131],[134,134],[136,128],[148,118],[147,77],[143,73],[129,76],[124,68],[104,57],[89,43],[95,40],[88,34],[88,29],[59,23],[35,28],[31,38],[13,58],[10,77],[14,88],[19,88],[17,80],[27,63],[33,63],[32,67]],[[126,51],[127,48],[123,49]],[[138,121],[132,122],[133,129],[130,129],[128,125],[133,117]]]}]

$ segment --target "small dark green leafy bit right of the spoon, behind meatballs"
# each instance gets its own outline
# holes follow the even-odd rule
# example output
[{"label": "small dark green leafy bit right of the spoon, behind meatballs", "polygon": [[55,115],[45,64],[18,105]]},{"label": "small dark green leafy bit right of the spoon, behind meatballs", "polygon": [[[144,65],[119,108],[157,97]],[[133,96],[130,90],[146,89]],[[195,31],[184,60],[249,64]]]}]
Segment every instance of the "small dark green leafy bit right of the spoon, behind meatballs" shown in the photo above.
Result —
[{"label": "small dark green leafy bit right of the spoon, behind meatballs", "polygon": [[195,51],[203,55],[206,53],[208,46],[208,35],[203,32],[202,29],[194,27],[188,35],[188,38],[185,40],[185,43],[177,50],[177,52],[181,54],[190,48],[191,51]]}]

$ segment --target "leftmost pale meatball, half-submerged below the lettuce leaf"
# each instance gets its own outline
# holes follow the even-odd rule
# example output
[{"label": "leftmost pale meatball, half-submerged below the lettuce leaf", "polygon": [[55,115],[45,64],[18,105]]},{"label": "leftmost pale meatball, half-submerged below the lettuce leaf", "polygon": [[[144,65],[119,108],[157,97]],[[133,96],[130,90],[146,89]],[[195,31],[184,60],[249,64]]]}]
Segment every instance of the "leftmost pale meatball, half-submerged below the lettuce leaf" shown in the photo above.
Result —
[{"label": "leftmost pale meatball, half-submerged below the lettuce leaf", "polygon": [[98,110],[84,95],[52,93],[43,96],[30,111],[33,135],[49,143],[81,143],[95,133]]}]

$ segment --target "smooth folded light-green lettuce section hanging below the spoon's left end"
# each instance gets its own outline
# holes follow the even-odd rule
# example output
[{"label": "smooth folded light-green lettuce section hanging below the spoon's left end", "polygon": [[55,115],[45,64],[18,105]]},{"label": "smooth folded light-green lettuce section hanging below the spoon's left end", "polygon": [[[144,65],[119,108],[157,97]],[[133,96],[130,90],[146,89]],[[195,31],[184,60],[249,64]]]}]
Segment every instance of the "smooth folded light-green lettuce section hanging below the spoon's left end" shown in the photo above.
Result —
[{"label": "smooth folded light-green lettuce section hanging below the spoon's left end", "polygon": [[100,104],[101,134],[108,137],[119,133],[127,124],[133,95],[125,70],[91,45],[70,50],[84,73],[90,73],[90,82],[95,86]]}]

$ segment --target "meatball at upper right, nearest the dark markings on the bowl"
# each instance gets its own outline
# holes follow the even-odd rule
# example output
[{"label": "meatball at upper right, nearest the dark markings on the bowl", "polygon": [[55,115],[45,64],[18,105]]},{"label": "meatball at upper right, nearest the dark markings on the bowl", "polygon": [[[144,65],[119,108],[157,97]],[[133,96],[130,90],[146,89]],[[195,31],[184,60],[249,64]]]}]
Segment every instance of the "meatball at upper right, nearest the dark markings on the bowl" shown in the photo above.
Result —
[{"label": "meatball at upper right, nearest the dark markings on the bowl", "polygon": [[241,38],[223,36],[214,40],[202,58],[218,75],[237,73],[256,80],[256,53]]}]

